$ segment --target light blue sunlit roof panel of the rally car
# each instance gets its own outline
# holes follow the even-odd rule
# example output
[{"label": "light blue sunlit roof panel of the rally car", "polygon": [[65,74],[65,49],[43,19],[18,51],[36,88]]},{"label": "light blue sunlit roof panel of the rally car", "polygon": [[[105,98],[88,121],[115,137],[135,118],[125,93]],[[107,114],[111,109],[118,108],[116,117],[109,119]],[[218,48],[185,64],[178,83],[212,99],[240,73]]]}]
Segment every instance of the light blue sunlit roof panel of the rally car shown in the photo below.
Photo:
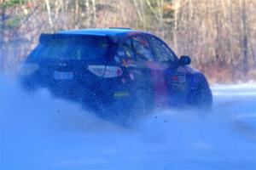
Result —
[{"label": "light blue sunlit roof panel of the rally car", "polygon": [[78,34],[78,35],[95,35],[95,36],[125,36],[128,34],[146,33],[145,31],[131,30],[128,28],[90,28],[80,30],[58,31],[56,34]]}]

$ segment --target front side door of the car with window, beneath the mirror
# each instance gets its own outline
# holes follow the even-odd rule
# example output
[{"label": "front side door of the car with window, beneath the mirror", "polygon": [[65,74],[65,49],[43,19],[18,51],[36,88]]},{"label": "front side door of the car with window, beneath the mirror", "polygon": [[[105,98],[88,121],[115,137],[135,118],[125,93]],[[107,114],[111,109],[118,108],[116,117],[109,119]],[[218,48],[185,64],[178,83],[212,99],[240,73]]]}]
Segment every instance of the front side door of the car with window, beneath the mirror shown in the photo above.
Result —
[{"label": "front side door of the car with window, beneath the mirror", "polygon": [[[177,55],[158,37],[148,36],[160,69],[155,74],[157,93],[166,97],[168,105],[179,105],[185,99],[186,75],[183,66],[178,65]],[[166,95],[165,95],[166,94]]]}]

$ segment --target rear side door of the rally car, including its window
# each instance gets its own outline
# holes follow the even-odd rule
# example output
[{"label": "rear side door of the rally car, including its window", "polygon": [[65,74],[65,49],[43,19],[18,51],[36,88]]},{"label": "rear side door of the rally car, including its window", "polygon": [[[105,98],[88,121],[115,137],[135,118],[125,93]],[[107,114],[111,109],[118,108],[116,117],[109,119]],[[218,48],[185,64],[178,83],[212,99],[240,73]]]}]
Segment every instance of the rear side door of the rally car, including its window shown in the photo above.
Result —
[{"label": "rear side door of the rally car, including its window", "polygon": [[154,62],[154,54],[148,40],[142,35],[126,37],[122,42],[119,56],[123,55],[126,79],[125,83],[131,94],[143,99],[144,102],[152,101],[152,78],[148,63]]}]

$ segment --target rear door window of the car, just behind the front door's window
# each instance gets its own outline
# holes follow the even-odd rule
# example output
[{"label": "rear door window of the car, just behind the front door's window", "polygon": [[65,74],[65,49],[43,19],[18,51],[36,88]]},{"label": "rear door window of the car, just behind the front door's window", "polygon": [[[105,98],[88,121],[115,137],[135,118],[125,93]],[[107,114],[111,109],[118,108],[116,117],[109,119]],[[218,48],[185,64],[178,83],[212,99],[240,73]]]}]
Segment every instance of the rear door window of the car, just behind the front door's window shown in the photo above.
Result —
[{"label": "rear door window of the car, just behind the front door's window", "polygon": [[154,54],[152,53],[152,50],[150,48],[150,45],[147,39],[141,36],[137,36],[137,37],[132,37],[132,42],[135,49],[136,58],[138,61],[154,60]]}]

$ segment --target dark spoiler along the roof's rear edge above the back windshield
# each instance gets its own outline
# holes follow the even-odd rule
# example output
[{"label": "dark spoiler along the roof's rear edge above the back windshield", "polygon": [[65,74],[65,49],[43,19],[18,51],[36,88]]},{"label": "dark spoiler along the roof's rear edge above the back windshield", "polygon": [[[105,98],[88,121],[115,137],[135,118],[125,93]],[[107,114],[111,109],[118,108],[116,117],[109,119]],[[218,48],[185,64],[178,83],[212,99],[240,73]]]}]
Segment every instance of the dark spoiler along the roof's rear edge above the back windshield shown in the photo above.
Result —
[{"label": "dark spoiler along the roof's rear edge above the back windshield", "polygon": [[96,34],[96,35],[86,35],[86,34],[47,34],[47,33],[43,33],[41,34],[41,36],[39,37],[39,42],[40,43],[47,43],[50,41],[60,41],[61,39],[73,39],[73,38],[78,38],[78,40],[83,40],[83,38],[85,37],[108,37],[111,42],[114,43],[118,43],[119,39],[118,37],[112,37],[112,36],[107,36],[104,34]]}]

